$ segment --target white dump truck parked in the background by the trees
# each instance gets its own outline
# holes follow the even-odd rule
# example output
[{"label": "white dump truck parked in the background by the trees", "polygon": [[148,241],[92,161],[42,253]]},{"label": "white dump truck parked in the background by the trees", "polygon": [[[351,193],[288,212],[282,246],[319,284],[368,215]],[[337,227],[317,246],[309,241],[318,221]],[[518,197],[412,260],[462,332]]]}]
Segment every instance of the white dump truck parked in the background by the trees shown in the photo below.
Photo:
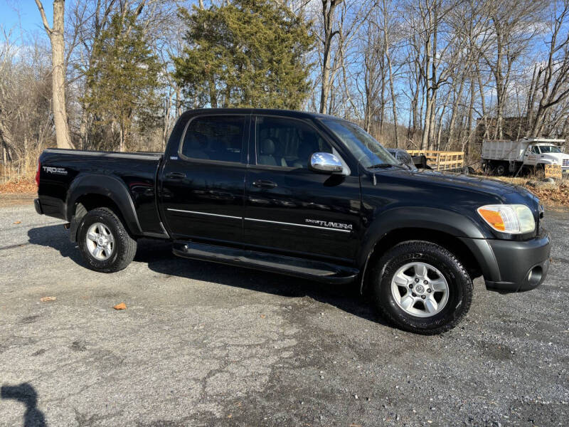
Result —
[{"label": "white dump truck parked in the background by the trees", "polygon": [[488,139],[482,142],[482,168],[496,175],[518,172],[522,168],[543,169],[558,164],[569,173],[569,154],[560,147],[565,139]]}]

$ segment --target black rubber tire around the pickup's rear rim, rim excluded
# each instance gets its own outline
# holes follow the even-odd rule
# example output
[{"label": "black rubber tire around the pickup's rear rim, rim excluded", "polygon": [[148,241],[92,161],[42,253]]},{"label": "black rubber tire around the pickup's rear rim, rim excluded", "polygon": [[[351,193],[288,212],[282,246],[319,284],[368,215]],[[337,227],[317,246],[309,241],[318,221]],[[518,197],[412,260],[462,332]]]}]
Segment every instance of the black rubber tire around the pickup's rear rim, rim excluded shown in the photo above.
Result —
[{"label": "black rubber tire around the pickup's rear rim, rim excluded", "polygon": [[[107,226],[114,239],[111,254],[105,260],[95,258],[87,247],[87,231],[94,223]],[[109,208],[97,208],[87,212],[81,218],[77,236],[79,250],[87,266],[100,273],[115,273],[124,270],[137,253],[137,241],[129,235],[122,221]]]}]

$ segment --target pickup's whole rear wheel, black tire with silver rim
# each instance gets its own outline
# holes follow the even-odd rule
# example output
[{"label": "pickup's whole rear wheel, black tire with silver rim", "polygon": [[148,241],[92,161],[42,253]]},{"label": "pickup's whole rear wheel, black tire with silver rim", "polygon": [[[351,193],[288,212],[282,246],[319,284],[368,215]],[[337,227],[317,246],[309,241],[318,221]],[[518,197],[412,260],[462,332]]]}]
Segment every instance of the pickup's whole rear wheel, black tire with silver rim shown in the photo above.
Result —
[{"label": "pickup's whole rear wheel, black tire with silver rim", "polygon": [[89,268],[101,273],[123,270],[137,253],[137,241],[108,208],[93,209],[81,218],[78,244]]}]

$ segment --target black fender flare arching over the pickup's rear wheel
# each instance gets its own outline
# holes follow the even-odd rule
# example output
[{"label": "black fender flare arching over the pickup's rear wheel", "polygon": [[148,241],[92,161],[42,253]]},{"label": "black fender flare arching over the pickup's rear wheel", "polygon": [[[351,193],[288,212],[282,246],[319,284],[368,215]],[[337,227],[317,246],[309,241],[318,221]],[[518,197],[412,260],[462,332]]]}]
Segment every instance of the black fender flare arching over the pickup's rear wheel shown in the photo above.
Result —
[{"label": "black fender flare arching over the pickup's rear wheel", "polygon": [[119,213],[124,218],[124,226],[128,231],[136,236],[142,235],[137,211],[127,186],[114,176],[89,174],[75,178],[69,187],[65,201],[65,216],[68,221],[73,220],[71,213],[78,199],[87,194],[98,194],[111,199],[118,206]]}]

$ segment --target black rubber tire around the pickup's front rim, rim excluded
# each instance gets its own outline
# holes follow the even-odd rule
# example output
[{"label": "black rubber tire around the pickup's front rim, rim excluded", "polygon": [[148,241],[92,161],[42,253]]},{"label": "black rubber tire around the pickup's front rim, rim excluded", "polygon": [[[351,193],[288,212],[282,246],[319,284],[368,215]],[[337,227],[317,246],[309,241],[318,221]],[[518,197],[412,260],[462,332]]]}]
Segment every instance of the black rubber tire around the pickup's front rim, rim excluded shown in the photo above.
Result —
[{"label": "black rubber tire around the pickup's front rim, rim excluded", "polygon": [[[408,263],[432,265],[447,280],[446,305],[430,317],[417,317],[398,305],[391,281],[398,269]],[[407,241],[388,250],[373,266],[371,278],[373,305],[378,312],[402,330],[417,334],[440,334],[452,329],[467,314],[472,303],[472,279],[464,265],[450,251],[427,241]]]}]

